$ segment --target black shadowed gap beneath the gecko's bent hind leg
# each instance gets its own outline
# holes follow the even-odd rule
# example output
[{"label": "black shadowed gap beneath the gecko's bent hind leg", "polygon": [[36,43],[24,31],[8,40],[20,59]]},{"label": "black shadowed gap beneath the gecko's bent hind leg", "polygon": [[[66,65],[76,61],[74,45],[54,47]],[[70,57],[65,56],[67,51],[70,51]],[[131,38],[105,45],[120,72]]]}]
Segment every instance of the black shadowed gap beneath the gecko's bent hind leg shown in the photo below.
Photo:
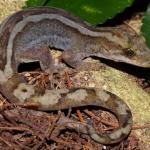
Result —
[{"label": "black shadowed gap beneath the gecko's bent hind leg", "polygon": [[41,71],[41,70],[42,69],[39,61],[20,63],[17,68],[18,73],[26,72],[26,71]]}]

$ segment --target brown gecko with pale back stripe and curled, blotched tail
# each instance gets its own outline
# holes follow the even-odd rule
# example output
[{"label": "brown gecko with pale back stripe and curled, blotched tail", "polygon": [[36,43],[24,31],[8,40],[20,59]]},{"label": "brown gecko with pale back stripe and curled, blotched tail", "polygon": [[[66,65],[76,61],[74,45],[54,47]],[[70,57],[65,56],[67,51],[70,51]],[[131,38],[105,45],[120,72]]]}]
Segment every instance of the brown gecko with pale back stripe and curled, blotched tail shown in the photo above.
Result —
[{"label": "brown gecko with pale back stripe and curled, blotched tail", "polygon": [[119,127],[101,134],[90,123],[86,131],[80,132],[102,144],[120,142],[129,135],[133,122],[131,110],[121,98],[97,88],[46,88],[40,92],[20,77],[18,66],[38,61],[42,71],[51,74],[54,65],[49,48],[56,48],[62,51],[64,62],[73,68],[90,56],[150,67],[150,50],[144,39],[128,30],[93,27],[58,8],[38,7],[16,12],[0,26],[0,93],[15,104],[32,104],[41,111],[87,105],[104,107],[117,117]]}]

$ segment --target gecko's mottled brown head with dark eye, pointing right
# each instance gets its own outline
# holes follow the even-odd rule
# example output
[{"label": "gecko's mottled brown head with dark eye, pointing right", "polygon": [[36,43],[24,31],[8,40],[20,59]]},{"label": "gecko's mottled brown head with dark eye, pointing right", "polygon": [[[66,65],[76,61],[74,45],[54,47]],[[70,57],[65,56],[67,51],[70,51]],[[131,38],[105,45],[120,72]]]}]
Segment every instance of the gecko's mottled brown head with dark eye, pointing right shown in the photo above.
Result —
[{"label": "gecko's mottled brown head with dark eye, pointing right", "polygon": [[114,59],[135,66],[150,68],[150,48],[146,45],[144,37],[126,25],[115,29],[109,40],[116,41],[121,46],[121,48],[117,48],[121,50],[116,51],[116,47],[114,47],[114,52],[112,52]]}]

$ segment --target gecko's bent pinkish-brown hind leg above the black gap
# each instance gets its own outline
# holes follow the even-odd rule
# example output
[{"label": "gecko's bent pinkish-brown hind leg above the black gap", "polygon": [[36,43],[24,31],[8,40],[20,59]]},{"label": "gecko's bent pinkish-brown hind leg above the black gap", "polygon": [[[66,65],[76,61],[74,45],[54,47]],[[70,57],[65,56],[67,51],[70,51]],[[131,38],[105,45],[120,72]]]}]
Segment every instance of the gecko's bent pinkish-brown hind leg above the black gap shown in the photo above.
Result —
[{"label": "gecko's bent pinkish-brown hind leg above the black gap", "polygon": [[[49,52],[49,47],[45,44],[36,45],[30,48],[26,48],[23,51],[16,52],[15,54],[15,66],[21,63],[39,62],[41,70],[52,74],[54,70],[54,62]],[[16,70],[17,70],[16,68]]]}]

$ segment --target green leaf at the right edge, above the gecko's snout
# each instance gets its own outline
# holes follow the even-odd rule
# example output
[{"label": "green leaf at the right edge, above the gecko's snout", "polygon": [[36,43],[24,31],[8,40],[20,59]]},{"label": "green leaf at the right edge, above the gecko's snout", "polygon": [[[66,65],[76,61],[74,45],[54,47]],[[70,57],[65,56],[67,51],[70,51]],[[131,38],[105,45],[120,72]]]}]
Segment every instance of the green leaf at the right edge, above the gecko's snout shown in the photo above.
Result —
[{"label": "green leaf at the right edge, above the gecko's snout", "polygon": [[148,9],[144,15],[142,22],[143,22],[143,25],[142,25],[141,31],[146,39],[147,45],[150,47],[150,4],[148,6]]}]

